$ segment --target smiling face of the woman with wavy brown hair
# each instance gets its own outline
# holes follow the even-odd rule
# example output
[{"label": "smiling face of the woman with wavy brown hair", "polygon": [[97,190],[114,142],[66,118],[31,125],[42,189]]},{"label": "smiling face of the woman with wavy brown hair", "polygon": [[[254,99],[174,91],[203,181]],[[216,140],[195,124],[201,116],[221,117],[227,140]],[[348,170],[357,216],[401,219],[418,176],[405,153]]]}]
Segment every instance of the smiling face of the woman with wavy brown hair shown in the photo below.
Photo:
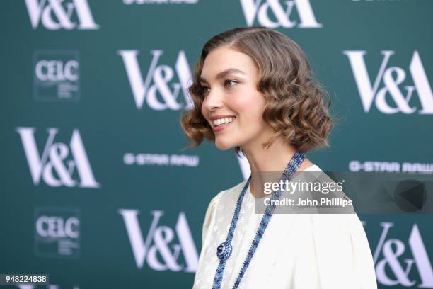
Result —
[{"label": "smiling face of the woman with wavy brown hair", "polygon": [[256,89],[258,81],[258,68],[248,55],[227,46],[207,55],[201,74],[202,115],[219,149],[240,146],[246,151],[267,140],[270,127],[262,120],[266,100]]}]

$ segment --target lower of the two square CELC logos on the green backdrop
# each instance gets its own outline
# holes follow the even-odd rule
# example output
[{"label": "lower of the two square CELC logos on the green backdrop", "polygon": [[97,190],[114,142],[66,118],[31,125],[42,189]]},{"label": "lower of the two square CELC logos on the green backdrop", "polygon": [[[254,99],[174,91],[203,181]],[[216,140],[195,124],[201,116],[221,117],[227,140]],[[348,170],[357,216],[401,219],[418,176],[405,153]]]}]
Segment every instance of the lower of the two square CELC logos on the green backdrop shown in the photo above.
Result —
[{"label": "lower of the two square CELC logos on the green backdrop", "polygon": [[35,208],[35,254],[79,257],[80,212],[77,208]]}]

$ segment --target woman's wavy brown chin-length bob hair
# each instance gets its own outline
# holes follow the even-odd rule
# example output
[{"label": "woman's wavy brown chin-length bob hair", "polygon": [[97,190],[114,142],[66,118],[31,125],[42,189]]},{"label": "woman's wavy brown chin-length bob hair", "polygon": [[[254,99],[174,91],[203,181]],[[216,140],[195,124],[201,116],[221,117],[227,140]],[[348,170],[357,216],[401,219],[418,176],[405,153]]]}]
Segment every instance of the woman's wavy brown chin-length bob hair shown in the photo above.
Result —
[{"label": "woman's wavy brown chin-length bob hair", "polygon": [[[255,26],[228,30],[204,45],[188,87],[193,108],[180,115],[180,125],[190,140],[188,148],[200,145],[204,137],[210,142],[215,140],[212,127],[201,112],[204,98],[200,75],[209,52],[222,46],[243,52],[258,67],[257,90],[266,99],[262,118],[275,131],[262,147],[270,147],[277,137],[283,137],[284,142],[300,152],[329,147],[328,134],[333,128],[328,112],[330,98],[324,103],[324,96],[329,95],[312,79],[306,55],[286,35]],[[241,147],[236,147],[235,152],[241,156]]]}]

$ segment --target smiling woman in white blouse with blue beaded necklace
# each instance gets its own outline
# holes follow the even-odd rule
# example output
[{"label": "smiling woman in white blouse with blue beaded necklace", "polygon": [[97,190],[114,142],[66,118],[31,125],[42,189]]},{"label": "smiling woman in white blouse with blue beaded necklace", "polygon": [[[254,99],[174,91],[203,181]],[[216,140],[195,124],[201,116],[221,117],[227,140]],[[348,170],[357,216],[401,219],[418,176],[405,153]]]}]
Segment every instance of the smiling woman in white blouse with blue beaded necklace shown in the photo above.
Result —
[{"label": "smiling woman in white blouse with blue beaded necklace", "polygon": [[[200,145],[235,147],[251,171],[321,171],[305,152],[328,146],[333,125],[325,92],[287,36],[236,28],[210,39],[181,118]],[[194,288],[376,288],[374,263],[356,214],[255,214],[255,174],[221,191],[204,217]]]}]

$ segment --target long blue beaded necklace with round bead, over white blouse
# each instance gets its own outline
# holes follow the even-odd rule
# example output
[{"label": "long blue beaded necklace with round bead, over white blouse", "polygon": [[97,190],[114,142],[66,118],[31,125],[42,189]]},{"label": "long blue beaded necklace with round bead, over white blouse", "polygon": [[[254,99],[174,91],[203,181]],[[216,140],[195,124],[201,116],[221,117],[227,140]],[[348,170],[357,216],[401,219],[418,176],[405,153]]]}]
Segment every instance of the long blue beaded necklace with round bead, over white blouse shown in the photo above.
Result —
[{"label": "long blue beaded necklace with round bead, over white blouse", "polygon": [[[282,179],[290,180],[293,174],[296,172],[296,170],[299,168],[301,163],[305,159],[304,152],[296,152],[293,157],[291,157],[291,160],[289,164],[287,164],[286,169],[284,169],[284,172],[282,173]],[[241,205],[243,196],[245,196],[246,190],[250,184],[251,181],[251,175],[248,178],[248,181],[246,182],[245,186],[243,186],[243,190],[241,191],[241,194],[239,195],[238,202],[236,203],[236,208],[233,214],[233,218],[231,219],[231,225],[229,229],[229,233],[227,234],[226,241],[222,242],[217,247],[217,256],[219,258],[219,264],[217,268],[217,272],[215,273],[214,278],[214,285],[212,286],[212,289],[220,289],[221,288],[221,282],[223,278],[224,268],[226,268],[226,260],[229,259],[231,255],[231,250],[233,249],[231,246],[231,240],[233,239],[234,230],[236,229],[236,223],[238,222],[239,212],[241,211]],[[279,200],[279,197],[281,196],[282,191],[277,191],[272,194],[271,200]],[[241,283],[242,277],[246,272],[246,269],[248,268],[248,265],[250,264],[251,259],[253,258],[255,249],[257,249],[258,244],[260,243],[260,239],[262,239],[263,234],[265,234],[265,229],[267,227],[267,224],[270,221],[270,218],[272,217],[272,213],[275,210],[275,202],[270,202],[272,205],[268,205],[265,214],[262,217],[262,220],[260,222],[260,226],[255,233],[255,237],[253,239],[253,243],[250,246],[250,250],[248,251],[248,255],[246,256],[245,261],[243,261],[243,265],[241,268],[241,271],[238,274],[238,278],[236,278],[236,282],[233,285],[233,289],[238,288],[239,283]]]}]

